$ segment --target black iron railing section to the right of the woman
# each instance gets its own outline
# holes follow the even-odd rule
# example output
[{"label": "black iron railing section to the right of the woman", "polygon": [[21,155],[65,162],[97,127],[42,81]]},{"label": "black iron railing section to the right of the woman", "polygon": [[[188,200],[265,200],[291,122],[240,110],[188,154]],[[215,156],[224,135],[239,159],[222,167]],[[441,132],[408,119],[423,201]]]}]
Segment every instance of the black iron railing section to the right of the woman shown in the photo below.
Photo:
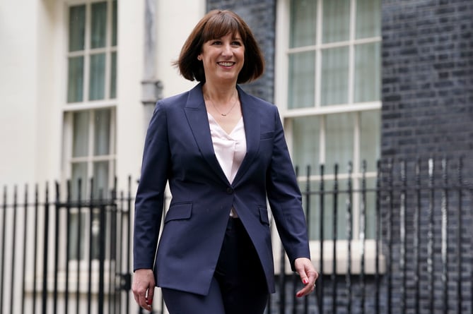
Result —
[{"label": "black iron railing section to the right of the woman", "polygon": [[[308,167],[305,178],[299,175],[305,182],[301,190],[312,222],[309,229],[320,224],[314,241],[319,256],[313,255],[321,274],[317,293],[305,300],[294,298],[300,289],[298,277],[289,274],[281,260],[278,293],[268,313],[288,309],[291,313],[473,313],[473,185],[464,176],[471,166],[465,169],[462,159],[387,160],[378,163],[371,186],[364,163],[356,178],[348,165],[344,186],[337,164],[330,180],[325,179],[325,169],[322,165],[313,175]],[[370,194],[375,197],[367,197]],[[313,198],[317,202],[311,202]],[[366,223],[368,207],[375,215],[371,226]],[[330,222],[325,220],[327,214],[332,216]],[[337,224],[340,215],[345,217],[342,232]],[[318,221],[311,220],[313,216]],[[327,238],[326,227],[331,227],[331,237]],[[367,248],[368,241],[374,248]],[[356,250],[352,243],[358,243]],[[326,246],[332,250],[330,270],[322,262]],[[341,271],[340,252],[348,261]]]}]

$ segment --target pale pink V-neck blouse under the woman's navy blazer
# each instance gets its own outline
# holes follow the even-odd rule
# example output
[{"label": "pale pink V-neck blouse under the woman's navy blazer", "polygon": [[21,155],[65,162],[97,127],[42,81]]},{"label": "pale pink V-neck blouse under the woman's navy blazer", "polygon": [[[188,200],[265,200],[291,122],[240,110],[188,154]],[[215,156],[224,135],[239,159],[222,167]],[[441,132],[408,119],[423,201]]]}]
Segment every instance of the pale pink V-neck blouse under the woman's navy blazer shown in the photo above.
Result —
[{"label": "pale pink V-neck blouse under the woman's navy blazer", "polygon": [[[215,155],[228,182],[232,183],[246,154],[243,117],[240,118],[233,131],[226,133],[211,114],[207,113],[207,116],[209,116],[210,135],[214,143]],[[230,216],[237,217],[233,208]]]}]

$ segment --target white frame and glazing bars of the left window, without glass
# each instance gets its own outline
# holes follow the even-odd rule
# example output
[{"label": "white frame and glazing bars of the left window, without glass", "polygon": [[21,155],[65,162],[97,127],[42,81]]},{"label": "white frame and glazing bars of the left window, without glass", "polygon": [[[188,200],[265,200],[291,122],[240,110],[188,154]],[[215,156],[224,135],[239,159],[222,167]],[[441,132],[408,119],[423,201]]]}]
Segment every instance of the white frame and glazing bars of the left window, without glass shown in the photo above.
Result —
[{"label": "white frame and glazing bars of the left window, without glass", "polygon": [[[106,43],[105,47],[101,48],[90,48],[90,34],[91,34],[91,24],[90,24],[90,16],[91,16],[91,6],[94,3],[98,2],[107,2],[107,28],[106,28]],[[65,1],[64,2],[64,11],[66,16],[66,44],[64,45],[64,50],[66,52],[66,63],[64,66],[64,81],[68,80],[68,66],[69,66],[69,57],[72,56],[83,56],[84,57],[84,64],[83,64],[83,101],[82,102],[67,102],[67,85],[64,84],[64,93],[63,95],[63,105],[62,105],[62,116],[63,116],[63,145],[62,145],[62,182],[66,183],[66,180],[71,178],[72,174],[72,164],[74,162],[86,162],[88,164],[87,167],[87,180],[82,184],[86,184],[86,195],[81,195],[82,200],[90,199],[90,182],[89,179],[93,177],[93,163],[100,162],[100,161],[107,161],[109,162],[109,171],[108,171],[108,186],[110,188],[113,187],[113,183],[115,181],[115,165],[117,160],[116,155],[116,141],[117,141],[117,91],[116,97],[110,98],[110,83],[111,83],[111,67],[112,67],[112,53],[117,53],[118,51],[118,43],[115,46],[112,46],[112,27],[110,23],[112,23],[112,3],[114,0],[78,0],[78,1]],[[118,2],[117,2],[118,4]],[[69,52],[69,9],[71,6],[86,6],[86,28],[84,34],[84,49],[79,52]],[[99,100],[89,100],[89,70],[90,70],[90,56],[92,54],[99,54],[105,53],[105,97],[104,99]],[[93,155],[93,148],[94,148],[94,115],[96,110],[100,109],[110,109],[110,143],[109,143],[109,154],[108,155]],[[88,121],[88,155],[84,157],[73,157],[72,156],[72,145],[73,145],[73,136],[74,136],[74,113],[78,111],[88,111],[89,112],[89,121]],[[63,192],[62,195],[66,195],[66,184],[63,184]],[[98,195],[94,195],[95,197]],[[104,191],[104,196],[110,198],[109,191]],[[88,219],[89,215],[89,207],[83,208],[83,213],[87,215],[85,225],[81,226],[82,229],[82,236],[83,240],[85,241],[86,245],[84,248],[84,256],[83,259],[79,260],[69,260],[69,271],[74,272],[77,269],[89,271],[88,270],[88,260],[89,260],[89,248],[88,248],[88,241],[89,241],[89,234],[86,232],[85,234],[83,231],[88,231],[90,227],[90,221]],[[77,213],[78,210],[71,210],[71,214]],[[67,222],[64,220],[64,224]],[[107,226],[110,223],[110,219],[106,219]],[[64,243],[66,244],[66,243]],[[110,243],[106,243],[107,251]],[[66,249],[64,247],[64,249]],[[106,258],[105,265],[109,265],[112,260],[108,260]],[[92,260],[92,271],[98,271],[98,260]],[[82,289],[86,289],[81,287]]]}]

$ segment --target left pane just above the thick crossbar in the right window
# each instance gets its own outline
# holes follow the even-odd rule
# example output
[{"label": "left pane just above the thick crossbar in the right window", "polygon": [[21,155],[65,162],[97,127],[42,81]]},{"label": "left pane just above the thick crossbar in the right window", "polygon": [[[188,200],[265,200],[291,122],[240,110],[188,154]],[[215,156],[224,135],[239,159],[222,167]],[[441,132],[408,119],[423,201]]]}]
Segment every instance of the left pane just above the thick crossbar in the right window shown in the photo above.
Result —
[{"label": "left pane just above the thick crossbar in the right window", "polygon": [[314,106],[315,52],[289,55],[288,108]]}]

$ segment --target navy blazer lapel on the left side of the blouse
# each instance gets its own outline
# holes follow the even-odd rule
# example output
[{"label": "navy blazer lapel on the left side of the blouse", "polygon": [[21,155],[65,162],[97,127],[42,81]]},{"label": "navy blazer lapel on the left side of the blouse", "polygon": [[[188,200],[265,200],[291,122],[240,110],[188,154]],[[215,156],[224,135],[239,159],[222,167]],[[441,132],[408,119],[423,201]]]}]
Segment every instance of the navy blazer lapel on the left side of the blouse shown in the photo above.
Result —
[{"label": "navy blazer lapel on the left side of the blouse", "polygon": [[189,91],[189,98],[185,105],[185,116],[194,134],[194,139],[202,157],[204,157],[211,169],[214,170],[223,181],[228,183],[228,179],[223,173],[220,164],[218,164],[215,155],[214,144],[212,143],[210,135],[209,117],[207,116],[204,96],[202,95],[202,83]]}]

